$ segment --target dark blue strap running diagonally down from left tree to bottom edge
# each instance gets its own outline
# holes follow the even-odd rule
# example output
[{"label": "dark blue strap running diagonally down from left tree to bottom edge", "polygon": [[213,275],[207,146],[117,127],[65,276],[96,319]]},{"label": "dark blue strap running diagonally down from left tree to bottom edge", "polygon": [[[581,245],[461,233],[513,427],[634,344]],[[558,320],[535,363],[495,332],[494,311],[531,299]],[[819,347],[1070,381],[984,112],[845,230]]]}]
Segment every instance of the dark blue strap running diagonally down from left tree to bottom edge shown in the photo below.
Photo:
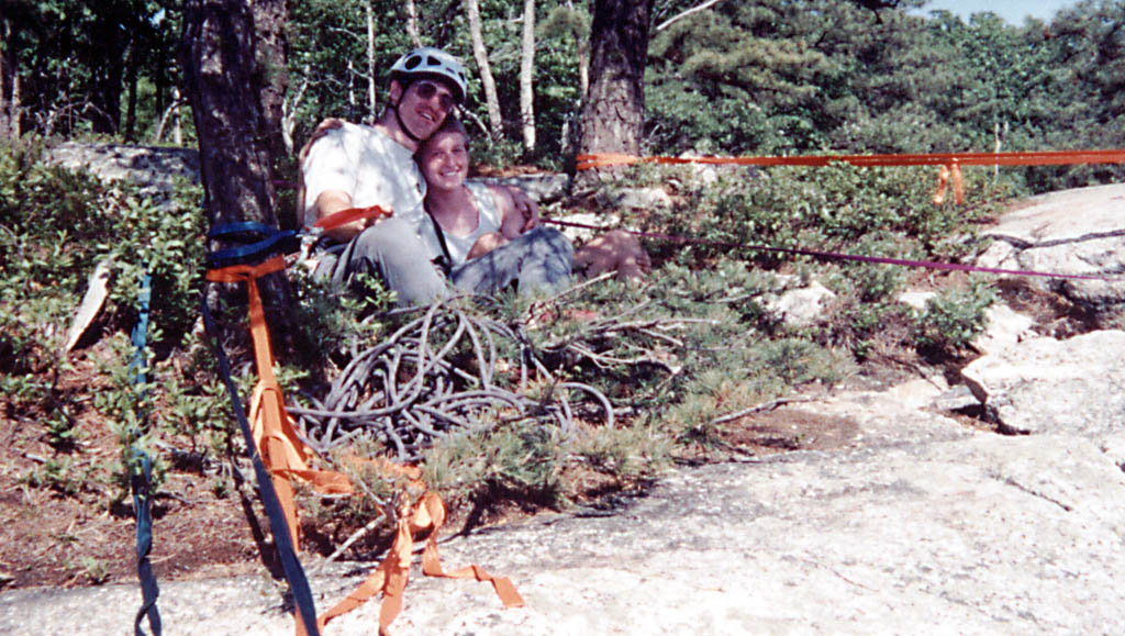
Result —
[{"label": "dark blue strap running diagonally down from left tree to bottom edge", "polygon": [[289,581],[289,588],[292,590],[297,613],[305,626],[305,633],[308,636],[318,636],[320,630],[316,627],[316,606],[313,602],[313,592],[308,586],[308,579],[305,577],[305,571],[300,566],[300,561],[297,559],[297,553],[294,550],[292,537],[289,536],[289,525],[286,521],[285,512],[281,510],[281,502],[278,500],[277,491],[273,490],[273,480],[266,469],[262,457],[258,453],[258,447],[254,445],[254,436],[250,430],[250,421],[246,419],[242,400],[238,397],[238,387],[234,384],[234,378],[231,377],[231,364],[227,361],[226,352],[223,350],[215,319],[207,306],[208,288],[209,285],[205,284],[201,303],[204,326],[207,330],[208,339],[212,341],[212,347],[215,348],[218,373],[223,377],[223,383],[226,385],[226,391],[231,396],[231,407],[234,410],[234,416],[238,421],[238,428],[242,429],[242,437],[246,440],[246,454],[250,455],[251,463],[254,465],[254,475],[258,478],[258,492],[262,498],[266,514],[270,520],[273,544],[278,548],[281,567],[285,571],[286,579]]}]

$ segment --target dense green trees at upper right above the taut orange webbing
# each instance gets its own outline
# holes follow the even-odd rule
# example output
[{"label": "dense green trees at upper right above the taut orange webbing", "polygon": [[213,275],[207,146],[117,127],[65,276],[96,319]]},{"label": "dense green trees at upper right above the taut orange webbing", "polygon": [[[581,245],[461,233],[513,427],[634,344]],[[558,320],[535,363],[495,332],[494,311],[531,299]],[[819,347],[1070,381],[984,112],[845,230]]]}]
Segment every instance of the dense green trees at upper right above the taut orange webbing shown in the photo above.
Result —
[{"label": "dense green trees at upper right above the taut orange webbing", "polygon": [[[668,3],[665,15],[688,5]],[[858,5],[720,3],[657,32],[646,89],[654,153],[1122,144],[1119,2],[1084,2],[1051,25],[1023,26],[989,12],[965,23],[947,11],[882,10],[875,20]],[[1011,172],[1034,191],[1120,178],[1109,165]]]}]

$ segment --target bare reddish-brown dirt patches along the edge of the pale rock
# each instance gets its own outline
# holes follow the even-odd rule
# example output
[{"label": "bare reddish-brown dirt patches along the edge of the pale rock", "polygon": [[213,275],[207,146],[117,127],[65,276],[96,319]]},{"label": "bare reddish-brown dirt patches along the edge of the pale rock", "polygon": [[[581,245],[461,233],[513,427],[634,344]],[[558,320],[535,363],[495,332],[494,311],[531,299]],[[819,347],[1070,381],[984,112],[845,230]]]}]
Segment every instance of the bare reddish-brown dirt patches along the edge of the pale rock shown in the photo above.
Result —
[{"label": "bare reddish-brown dirt patches along the edge of the pale rock", "polygon": [[[1035,315],[1044,332],[1058,337],[1077,329],[1068,308],[1050,296],[1020,286],[1008,286],[1001,293],[1014,308]],[[80,402],[83,407],[72,414],[79,433],[69,453],[60,453],[47,442],[39,414],[16,412],[7,396],[0,397],[0,591],[136,580],[132,499],[105,478],[81,478],[109,474],[108,466],[119,459],[119,442],[110,422],[91,404],[93,394],[108,382],[97,364],[105,355],[97,344],[78,351],[73,370],[61,379],[61,386],[86,396]],[[873,360],[849,382],[865,388],[890,386],[918,377],[919,364],[916,357]],[[712,441],[717,444],[703,450],[688,449],[681,459],[721,462],[734,455],[828,450],[855,432],[855,424],[847,420],[792,413],[766,407],[726,422],[714,431],[717,439]],[[965,426],[989,426],[972,414],[954,415]],[[66,471],[60,473],[60,463],[69,463]],[[66,476],[52,480],[51,471]],[[263,534],[259,527],[263,517],[250,487],[224,490],[216,487],[217,483],[214,467],[190,462],[173,465],[166,474],[154,509],[151,558],[159,580],[245,574],[268,565],[260,549],[268,530]],[[575,475],[574,483],[578,499],[587,501],[612,495],[621,487],[596,475]],[[462,504],[451,510],[449,527],[503,522],[541,509],[533,501],[486,502],[484,511]],[[342,539],[340,531],[332,537],[336,544]],[[306,537],[312,544],[306,549],[317,550],[316,529],[307,528]],[[379,541],[374,543],[372,549]]]}]

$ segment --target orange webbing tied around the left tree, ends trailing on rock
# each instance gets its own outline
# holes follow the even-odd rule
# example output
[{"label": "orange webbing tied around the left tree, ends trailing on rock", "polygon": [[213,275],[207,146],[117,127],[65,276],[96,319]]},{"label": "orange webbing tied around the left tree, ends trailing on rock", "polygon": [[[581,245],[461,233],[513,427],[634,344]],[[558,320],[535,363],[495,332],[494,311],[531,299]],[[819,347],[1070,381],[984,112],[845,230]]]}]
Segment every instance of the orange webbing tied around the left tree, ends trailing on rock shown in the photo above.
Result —
[{"label": "orange webbing tied around the left tree, ends trailing on rock", "polygon": [[[350,494],[353,492],[353,486],[351,481],[341,473],[308,467],[308,450],[297,437],[292,428],[292,419],[285,410],[281,386],[273,375],[273,352],[270,348],[266,312],[255,283],[259,277],[281,269],[285,269],[285,259],[274,257],[258,266],[240,265],[210,270],[207,272],[207,279],[216,283],[246,283],[250,332],[254,342],[254,362],[259,376],[250,405],[251,430],[258,451],[277,490],[296,552],[299,527],[290,480],[297,478],[308,482],[317,491],[326,493]],[[507,577],[492,576],[477,565],[469,565],[453,572],[443,572],[441,559],[438,556],[436,541],[438,530],[446,522],[446,507],[442,504],[441,498],[426,489],[418,468],[400,466],[386,459],[379,459],[377,463],[384,475],[392,480],[405,478],[412,486],[407,490],[424,491],[424,494],[413,505],[405,492],[400,494],[395,539],[386,558],[356,591],[317,619],[317,626],[321,630],[333,618],[358,608],[375,594],[382,592],[382,607],[379,609],[379,634],[386,634],[390,622],[402,610],[403,592],[410,576],[414,549],[414,532],[423,530],[428,531],[426,545],[422,554],[424,574],[448,579],[471,576],[477,581],[487,581],[493,584],[504,607],[523,604],[523,599]],[[305,635],[305,627],[299,618],[296,621],[296,633],[298,636]]]}]

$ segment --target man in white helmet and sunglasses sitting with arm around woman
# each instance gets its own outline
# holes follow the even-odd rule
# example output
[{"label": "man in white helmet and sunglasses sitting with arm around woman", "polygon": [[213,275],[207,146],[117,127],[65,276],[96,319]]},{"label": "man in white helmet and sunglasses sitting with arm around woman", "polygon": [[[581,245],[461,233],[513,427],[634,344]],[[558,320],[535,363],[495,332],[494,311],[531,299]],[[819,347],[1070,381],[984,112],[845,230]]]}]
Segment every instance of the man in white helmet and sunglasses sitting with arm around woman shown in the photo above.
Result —
[{"label": "man in white helmet and sunglasses sitting with arm around woman", "polygon": [[[422,47],[403,55],[390,69],[387,107],[371,126],[330,120],[302,152],[304,222],[349,208],[377,205],[390,218],[357,221],[327,233],[328,252],[339,258],[318,266],[343,283],[361,271],[379,274],[402,305],[433,302],[446,294],[438,271],[420,254],[425,179],[414,152],[465,100],[465,69],[444,51]],[[315,142],[315,143],[314,143]],[[538,208],[522,191],[513,192],[528,218]]]}]

